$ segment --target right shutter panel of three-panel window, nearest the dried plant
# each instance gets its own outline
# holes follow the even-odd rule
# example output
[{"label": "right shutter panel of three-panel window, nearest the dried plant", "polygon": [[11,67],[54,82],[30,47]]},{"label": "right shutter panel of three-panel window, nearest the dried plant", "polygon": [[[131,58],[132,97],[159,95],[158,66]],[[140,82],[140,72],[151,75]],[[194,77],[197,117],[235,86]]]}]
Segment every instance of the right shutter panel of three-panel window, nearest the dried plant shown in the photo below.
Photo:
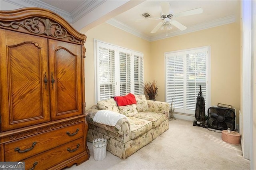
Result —
[{"label": "right shutter panel of three-panel window, nearest the dried plant", "polygon": [[134,55],[134,94],[144,94],[143,89],[143,57]]}]

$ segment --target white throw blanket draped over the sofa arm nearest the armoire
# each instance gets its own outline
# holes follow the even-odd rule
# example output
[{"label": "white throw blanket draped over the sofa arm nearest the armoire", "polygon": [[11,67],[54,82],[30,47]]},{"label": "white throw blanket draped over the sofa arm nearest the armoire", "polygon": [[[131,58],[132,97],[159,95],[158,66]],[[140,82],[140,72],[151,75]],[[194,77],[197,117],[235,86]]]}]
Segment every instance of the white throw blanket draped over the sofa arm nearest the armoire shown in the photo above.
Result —
[{"label": "white throw blanket draped over the sofa arm nearest the armoire", "polygon": [[126,116],[117,112],[100,110],[95,114],[92,120],[100,124],[115,126],[116,123],[124,117]]}]

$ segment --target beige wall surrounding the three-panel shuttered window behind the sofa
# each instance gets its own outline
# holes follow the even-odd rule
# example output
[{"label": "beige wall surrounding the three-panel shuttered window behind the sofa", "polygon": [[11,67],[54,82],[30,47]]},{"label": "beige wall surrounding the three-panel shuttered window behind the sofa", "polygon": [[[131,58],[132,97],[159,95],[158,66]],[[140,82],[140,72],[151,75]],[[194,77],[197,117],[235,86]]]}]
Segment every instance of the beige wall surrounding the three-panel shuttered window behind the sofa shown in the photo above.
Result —
[{"label": "beige wall surrounding the three-panel shuttered window behind the sofa", "polygon": [[144,53],[144,76],[147,77],[148,65],[150,63],[150,42],[120,30],[114,26],[103,23],[91,30],[81,33],[87,36],[85,43],[85,91],[86,91],[86,110],[95,104],[95,79],[94,79],[94,39],[101,40],[113,45],[118,45],[134,51]]}]

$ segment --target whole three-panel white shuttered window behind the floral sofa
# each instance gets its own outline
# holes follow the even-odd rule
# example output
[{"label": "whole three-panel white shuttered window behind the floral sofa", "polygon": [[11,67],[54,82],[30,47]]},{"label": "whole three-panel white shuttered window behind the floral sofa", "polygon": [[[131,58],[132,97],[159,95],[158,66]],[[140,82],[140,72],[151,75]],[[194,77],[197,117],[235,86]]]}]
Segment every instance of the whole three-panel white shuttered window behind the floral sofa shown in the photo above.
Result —
[{"label": "whole three-panel white shuttered window behind the floral sofa", "polygon": [[143,54],[95,40],[96,101],[144,94]]}]

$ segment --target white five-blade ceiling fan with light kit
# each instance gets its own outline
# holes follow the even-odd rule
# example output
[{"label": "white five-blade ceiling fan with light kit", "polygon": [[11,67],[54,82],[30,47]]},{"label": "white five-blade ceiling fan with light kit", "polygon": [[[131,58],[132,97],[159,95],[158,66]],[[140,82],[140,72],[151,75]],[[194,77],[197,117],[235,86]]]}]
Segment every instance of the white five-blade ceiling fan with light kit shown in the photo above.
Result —
[{"label": "white five-blade ceiling fan with light kit", "polygon": [[136,20],[136,22],[140,22],[142,20],[162,20],[159,22],[156,27],[151,31],[151,33],[157,32],[161,27],[161,30],[166,28],[166,30],[172,29],[172,26],[175,26],[179,30],[183,31],[186,30],[187,27],[181,24],[180,22],[174,20],[174,18],[182,17],[182,16],[190,16],[190,15],[195,15],[195,14],[201,14],[203,12],[202,8],[196,8],[193,10],[188,10],[184,12],[180,12],[178,14],[173,14],[170,12],[170,3],[169,2],[161,2],[161,8],[162,12],[160,14],[159,18],[148,18],[148,19],[141,19],[141,20]]}]

